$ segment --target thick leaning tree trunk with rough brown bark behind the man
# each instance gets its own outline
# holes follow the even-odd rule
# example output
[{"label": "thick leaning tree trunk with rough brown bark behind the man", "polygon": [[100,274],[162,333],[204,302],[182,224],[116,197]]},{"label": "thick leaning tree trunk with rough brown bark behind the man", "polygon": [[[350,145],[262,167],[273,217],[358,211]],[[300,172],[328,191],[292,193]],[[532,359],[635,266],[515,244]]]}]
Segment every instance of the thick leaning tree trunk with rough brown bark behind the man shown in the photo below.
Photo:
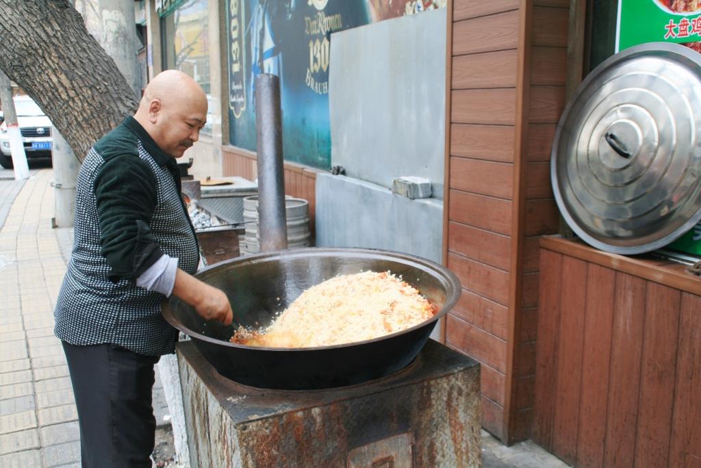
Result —
[{"label": "thick leaning tree trunk with rough brown bark behind the man", "polygon": [[132,114],[134,93],[67,0],[0,0],[0,69],[43,109],[83,160]]}]

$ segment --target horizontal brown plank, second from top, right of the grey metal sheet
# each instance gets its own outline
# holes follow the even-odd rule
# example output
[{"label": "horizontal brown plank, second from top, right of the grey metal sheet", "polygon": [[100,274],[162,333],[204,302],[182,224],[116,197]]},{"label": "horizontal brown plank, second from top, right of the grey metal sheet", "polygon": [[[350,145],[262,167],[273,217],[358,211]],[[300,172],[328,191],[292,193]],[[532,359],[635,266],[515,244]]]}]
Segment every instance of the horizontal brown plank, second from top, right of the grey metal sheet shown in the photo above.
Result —
[{"label": "horizontal brown plank, second from top, right of the grey metal sheet", "polygon": [[[518,11],[508,11],[453,23],[453,55],[516,48]],[[506,34],[505,34],[506,33]]]}]

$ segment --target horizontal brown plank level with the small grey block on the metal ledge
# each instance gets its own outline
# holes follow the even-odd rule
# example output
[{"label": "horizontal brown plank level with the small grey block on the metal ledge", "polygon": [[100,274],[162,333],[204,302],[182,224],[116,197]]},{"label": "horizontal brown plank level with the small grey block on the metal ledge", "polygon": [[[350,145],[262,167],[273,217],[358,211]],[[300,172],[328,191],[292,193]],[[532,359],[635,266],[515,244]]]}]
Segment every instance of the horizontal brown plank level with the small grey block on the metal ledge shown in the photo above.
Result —
[{"label": "horizontal brown plank level with the small grey block on the metal ledge", "polygon": [[513,165],[479,159],[450,159],[450,187],[465,192],[511,199]]}]

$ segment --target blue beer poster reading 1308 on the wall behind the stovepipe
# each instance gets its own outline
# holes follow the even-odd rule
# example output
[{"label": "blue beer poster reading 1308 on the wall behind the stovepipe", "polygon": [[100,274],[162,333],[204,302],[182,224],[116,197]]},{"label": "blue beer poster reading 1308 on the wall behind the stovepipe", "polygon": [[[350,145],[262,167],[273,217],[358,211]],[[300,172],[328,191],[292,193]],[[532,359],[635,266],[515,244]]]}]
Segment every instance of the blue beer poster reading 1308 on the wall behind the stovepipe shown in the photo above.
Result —
[{"label": "blue beer poster reading 1308 on the wall behind the stovepipe", "polygon": [[331,34],[447,0],[227,0],[229,138],[256,150],[254,76],[280,77],[286,161],[329,168]]}]

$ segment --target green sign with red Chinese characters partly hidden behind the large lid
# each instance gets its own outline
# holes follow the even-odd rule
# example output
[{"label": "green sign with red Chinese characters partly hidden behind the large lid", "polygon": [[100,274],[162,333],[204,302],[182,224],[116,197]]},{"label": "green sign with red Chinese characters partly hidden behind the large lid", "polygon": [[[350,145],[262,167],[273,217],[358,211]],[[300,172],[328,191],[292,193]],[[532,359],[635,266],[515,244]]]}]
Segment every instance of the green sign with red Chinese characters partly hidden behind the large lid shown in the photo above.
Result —
[{"label": "green sign with red Chinese characters partly hidden behind the large lid", "polygon": [[[701,52],[701,2],[619,0],[616,52],[646,42],[676,42]],[[701,255],[701,223],[668,247]]]}]

